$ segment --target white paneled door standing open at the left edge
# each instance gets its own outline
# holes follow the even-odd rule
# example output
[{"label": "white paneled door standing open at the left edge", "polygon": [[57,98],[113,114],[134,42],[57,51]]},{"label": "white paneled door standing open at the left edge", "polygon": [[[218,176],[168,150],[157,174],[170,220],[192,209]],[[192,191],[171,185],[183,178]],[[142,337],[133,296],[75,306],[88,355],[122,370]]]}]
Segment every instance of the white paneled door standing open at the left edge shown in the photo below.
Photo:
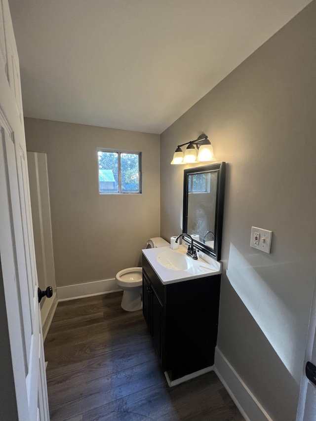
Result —
[{"label": "white paneled door standing open at the left edge", "polygon": [[0,0],[1,421],[49,420],[19,61]]}]

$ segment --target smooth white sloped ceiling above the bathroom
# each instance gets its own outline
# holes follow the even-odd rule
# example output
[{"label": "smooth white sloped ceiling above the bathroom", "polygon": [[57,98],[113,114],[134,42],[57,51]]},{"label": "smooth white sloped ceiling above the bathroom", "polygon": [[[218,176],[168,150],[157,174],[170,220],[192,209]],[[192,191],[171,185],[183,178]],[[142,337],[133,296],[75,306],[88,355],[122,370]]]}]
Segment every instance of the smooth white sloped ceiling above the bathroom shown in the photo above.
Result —
[{"label": "smooth white sloped ceiling above the bathroom", "polygon": [[9,0],[24,115],[161,133],[311,0]]}]

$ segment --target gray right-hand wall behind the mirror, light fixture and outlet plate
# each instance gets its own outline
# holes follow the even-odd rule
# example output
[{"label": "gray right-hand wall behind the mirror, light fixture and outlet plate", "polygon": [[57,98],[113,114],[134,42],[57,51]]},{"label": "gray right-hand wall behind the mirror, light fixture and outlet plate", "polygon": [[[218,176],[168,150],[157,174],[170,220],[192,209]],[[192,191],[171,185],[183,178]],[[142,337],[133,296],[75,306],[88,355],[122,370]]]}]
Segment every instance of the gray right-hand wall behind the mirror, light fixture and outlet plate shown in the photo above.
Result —
[{"label": "gray right-hand wall behind the mirror, light fixture and outlet plate", "polygon": [[[316,2],[161,134],[161,235],[181,232],[178,144],[226,161],[218,348],[273,420],[295,420],[316,271]],[[249,247],[273,231],[272,253]],[[228,275],[226,270],[228,269]]]}]

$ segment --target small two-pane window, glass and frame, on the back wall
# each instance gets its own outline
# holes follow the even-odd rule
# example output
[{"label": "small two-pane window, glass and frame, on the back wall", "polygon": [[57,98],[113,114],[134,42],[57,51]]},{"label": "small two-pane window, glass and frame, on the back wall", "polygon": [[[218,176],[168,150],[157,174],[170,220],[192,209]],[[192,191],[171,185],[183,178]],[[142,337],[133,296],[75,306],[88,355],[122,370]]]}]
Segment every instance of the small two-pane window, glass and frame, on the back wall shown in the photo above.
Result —
[{"label": "small two-pane window, glass and frame, on the back wall", "polygon": [[98,149],[99,193],[141,193],[141,152]]}]

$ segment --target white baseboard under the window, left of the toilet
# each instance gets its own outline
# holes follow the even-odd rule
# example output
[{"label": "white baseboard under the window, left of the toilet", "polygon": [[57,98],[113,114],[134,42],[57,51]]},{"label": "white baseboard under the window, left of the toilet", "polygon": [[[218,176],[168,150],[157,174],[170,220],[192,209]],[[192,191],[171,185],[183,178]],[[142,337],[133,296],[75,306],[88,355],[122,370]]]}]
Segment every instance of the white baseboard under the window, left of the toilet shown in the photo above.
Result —
[{"label": "white baseboard under the window, left of the toilet", "polygon": [[93,295],[109,294],[121,291],[115,279],[104,279],[101,281],[85,282],[83,284],[67,285],[57,287],[57,300],[66,301],[76,298],[90,297]]}]

